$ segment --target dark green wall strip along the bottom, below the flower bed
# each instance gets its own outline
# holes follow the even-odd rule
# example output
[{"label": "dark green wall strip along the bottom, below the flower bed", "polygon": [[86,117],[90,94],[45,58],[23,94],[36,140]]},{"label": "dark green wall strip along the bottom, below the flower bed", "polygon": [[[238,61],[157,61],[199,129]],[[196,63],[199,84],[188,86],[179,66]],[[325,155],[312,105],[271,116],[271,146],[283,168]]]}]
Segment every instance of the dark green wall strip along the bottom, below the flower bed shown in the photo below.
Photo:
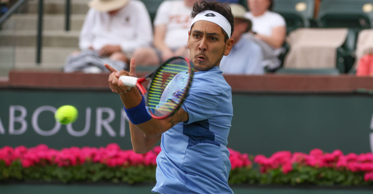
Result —
[{"label": "dark green wall strip along the bottom, below the flower bed", "polygon": [[[128,186],[128,185],[0,185],[1,193],[6,194],[151,194],[153,185]],[[235,194],[370,194],[369,188],[301,188],[301,187],[232,187]]]}]

